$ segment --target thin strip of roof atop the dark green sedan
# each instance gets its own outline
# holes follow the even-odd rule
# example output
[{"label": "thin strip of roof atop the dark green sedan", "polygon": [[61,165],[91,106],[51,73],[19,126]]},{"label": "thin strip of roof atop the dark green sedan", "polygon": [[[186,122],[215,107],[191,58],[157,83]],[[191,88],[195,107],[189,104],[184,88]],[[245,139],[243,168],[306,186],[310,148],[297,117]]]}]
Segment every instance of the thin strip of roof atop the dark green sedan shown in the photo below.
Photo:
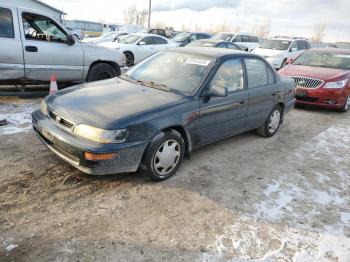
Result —
[{"label": "thin strip of roof atop the dark green sedan", "polygon": [[183,54],[191,54],[198,56],[205,56],[210,58],[220,58],[232,54],[252,55],[244,51],[228,49],[228,48],[215,48],[215,47],[178,47],[168,49],[166,52],[176,52]]}]

